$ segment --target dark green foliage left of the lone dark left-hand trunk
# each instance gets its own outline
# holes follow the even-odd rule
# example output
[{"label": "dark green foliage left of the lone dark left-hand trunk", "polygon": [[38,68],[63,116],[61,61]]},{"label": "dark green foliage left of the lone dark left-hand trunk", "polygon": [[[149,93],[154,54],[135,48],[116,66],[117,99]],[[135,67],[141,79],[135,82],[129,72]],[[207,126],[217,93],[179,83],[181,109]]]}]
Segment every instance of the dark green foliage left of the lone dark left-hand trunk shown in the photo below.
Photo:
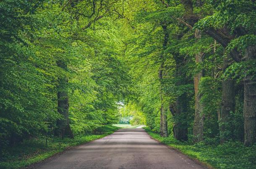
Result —
[{"label": "dark green foliage left of the lone dark left-hand trunk", "polygon": [[41,27],[37,21],[42,18],[35,12],[41,5],[41,1],[0,3],[1,147],[45,132],[59,117],[52,76],[39,66],[42,62],[31,44],[32,30]]}]

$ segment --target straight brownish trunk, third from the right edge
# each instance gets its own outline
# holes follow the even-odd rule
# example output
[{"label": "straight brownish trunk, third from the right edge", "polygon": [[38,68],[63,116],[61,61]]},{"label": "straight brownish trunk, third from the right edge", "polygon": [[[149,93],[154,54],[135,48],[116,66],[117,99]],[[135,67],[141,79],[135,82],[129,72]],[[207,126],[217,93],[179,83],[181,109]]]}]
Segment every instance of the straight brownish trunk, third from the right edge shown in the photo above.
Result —
[{"label": "straight brownish trunk, third from the right edge", "polygon": [[[199,40],[201,38],[201,31],[195,30],[195,38]],[[202,63],[202,53],[197,53],[195,56],[196,63]],[[203,77],[203,71],[199,71],[194,75],[194,88],[195,88],[195,119],[193,125],[194,142],[199,142],[204,139],[204,115],[203,105],[200,103],[201,93],[199,93],[199,82]]]}]

